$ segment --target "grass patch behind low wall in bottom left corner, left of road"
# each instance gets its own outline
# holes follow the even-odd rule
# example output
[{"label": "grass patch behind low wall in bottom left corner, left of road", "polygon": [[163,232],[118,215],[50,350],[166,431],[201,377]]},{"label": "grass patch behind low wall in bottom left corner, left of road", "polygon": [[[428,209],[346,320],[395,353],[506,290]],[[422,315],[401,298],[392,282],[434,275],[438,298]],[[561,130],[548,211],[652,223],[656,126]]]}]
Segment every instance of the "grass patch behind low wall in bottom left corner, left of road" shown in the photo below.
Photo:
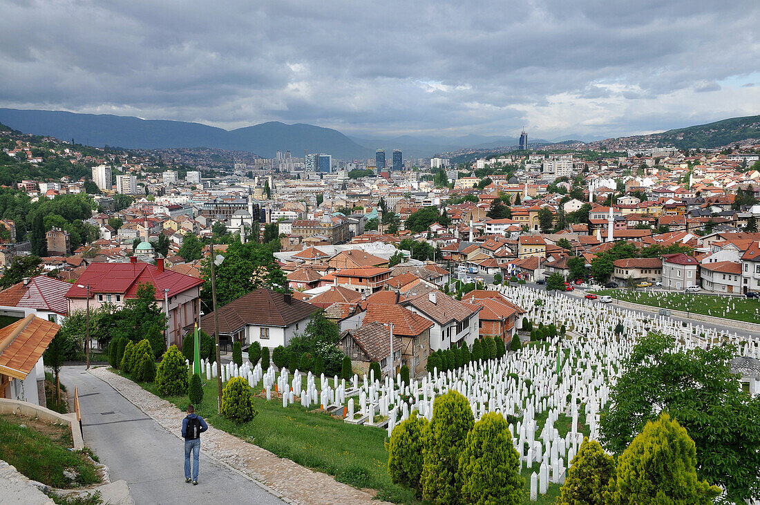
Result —
[{"label": "grass patch behind low wall in bottom left corner, left of road", "polygon": [[[24,418],[0,416],[0,459],[13,465],[21,474],[54,488],[75,488],[100,481],[95,466],[82,453],[68,450],[71,434],[62,431],[49,437],[33,428],[21,428]],[[75,469],[78,477],[71,481],[63,471]]]}]

